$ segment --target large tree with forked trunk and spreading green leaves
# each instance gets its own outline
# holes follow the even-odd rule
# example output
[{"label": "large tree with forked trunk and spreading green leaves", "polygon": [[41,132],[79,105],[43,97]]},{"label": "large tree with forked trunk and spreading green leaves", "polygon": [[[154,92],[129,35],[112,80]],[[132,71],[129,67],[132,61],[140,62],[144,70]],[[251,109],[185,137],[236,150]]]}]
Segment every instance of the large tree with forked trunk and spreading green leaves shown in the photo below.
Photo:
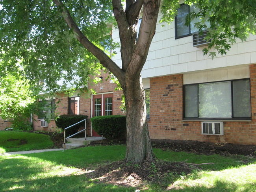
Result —
[{"label": "large tree with forked trunk and spreading green leaves", "polygon": [[[89,74],[96,74],[101,65],[107,68],[118,79],[125,96],[126,161],[154,161],[140,73],[155,34],[160,2],[0,0],[0,55],[8,70],[13,70],[19,61],[30,82],[43,80],[48,92],[60,90],[58,81],[62,78],[64,85],[72,83],[74,88],[80,88],[86,85]],[[210,48],[214,47],[221,54],[230,48],[228,41],[233,43],[237,37],[245,40],[248,33],[255,33],[254,0],[191,0],[186,3],[195,3],[200,10],[191,13],[187,22],[190,18],[202,18],[196,23],[199,30],[206,27],[206,20],[210,22],[207,37],[211,38]],[[162,21],[171,22],[177,7],[178,0],[163,0]],[[109,39],[108,24],[116,25],[119,30],[121,67],[104,51],[109,46],[117,47]],[[208,49],[204,52],[207,54]],[[214,56],[215,52],[211,51],[210,55]]]}]

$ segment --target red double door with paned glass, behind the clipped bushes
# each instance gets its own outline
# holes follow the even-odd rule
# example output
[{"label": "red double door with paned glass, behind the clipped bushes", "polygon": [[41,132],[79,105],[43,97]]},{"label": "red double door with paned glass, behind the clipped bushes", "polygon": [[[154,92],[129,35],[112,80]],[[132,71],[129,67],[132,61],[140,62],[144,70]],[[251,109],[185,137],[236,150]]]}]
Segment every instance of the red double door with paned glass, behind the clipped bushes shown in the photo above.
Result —
[{"label": "red double door with paned glass, behind the clipped bushes", "polygon": [[[93,117],[113,114],[113,93],[93,95]],[[94,130],[93,137],[101,137]]]}]

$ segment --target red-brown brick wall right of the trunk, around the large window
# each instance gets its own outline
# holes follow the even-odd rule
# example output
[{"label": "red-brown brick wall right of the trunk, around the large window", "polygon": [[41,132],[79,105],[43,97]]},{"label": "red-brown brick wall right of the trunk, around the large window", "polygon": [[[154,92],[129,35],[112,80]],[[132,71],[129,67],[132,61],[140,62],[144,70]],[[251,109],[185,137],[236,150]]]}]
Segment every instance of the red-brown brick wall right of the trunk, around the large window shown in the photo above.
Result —
[{"label": "red-brown brick wall right of the trunk, around the large window", "polygon": [[202,135],[200,121],[182,121],[182,75],[150,79],[150,137],[256,144],[256,65],[250,65],[251,122],[224,122],[224,135]]}]

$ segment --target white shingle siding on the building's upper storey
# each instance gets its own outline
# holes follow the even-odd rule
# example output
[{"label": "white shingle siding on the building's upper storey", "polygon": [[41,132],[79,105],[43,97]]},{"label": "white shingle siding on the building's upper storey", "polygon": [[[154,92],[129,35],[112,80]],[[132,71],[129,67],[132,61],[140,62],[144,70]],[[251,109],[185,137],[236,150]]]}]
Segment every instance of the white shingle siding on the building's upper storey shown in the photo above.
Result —
[{"label": "white shingle siding on the building's upper storey", "polygon": [[[226,55],[217,54],[217,57],[211,59],[208,55],[203,55],[203,47],[193,47],[192,36],[175,39],[174,22],[165,24],[165,27],[161,26],[160,23],[156,26],[156,34],[141,72],[143,78],[256,63],[256,35],[251,35],[246,42],[237,40]],[[116,42],[119,42],[118,36],[118,30],[114,29],[113,38]],[[117,55],[113,60],[121,66],[120,50],[115,52]]]}]

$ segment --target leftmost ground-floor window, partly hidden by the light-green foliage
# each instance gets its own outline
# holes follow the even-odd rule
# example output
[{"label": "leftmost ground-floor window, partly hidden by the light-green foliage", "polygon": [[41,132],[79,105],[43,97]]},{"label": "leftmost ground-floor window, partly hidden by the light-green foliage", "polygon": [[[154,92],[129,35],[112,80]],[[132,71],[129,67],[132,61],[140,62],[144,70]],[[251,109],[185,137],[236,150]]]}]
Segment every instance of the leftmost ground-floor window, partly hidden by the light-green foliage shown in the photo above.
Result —
[{"label": "leftmost ground-floor window, partly hidden by the light-green foliage", "polygon": [[55,99],[39,101],[42,110],[39,111],[38,119],[53,119],[55,113]]}]

